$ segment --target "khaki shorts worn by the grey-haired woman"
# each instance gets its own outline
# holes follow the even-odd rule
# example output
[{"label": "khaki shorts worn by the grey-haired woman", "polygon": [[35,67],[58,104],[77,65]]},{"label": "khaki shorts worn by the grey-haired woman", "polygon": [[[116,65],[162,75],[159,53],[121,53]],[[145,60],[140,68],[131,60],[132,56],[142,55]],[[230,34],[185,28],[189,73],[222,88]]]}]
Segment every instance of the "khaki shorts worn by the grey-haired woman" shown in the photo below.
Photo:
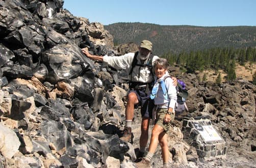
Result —
[{"label": "khaki shorts worn by the grey-haired woman", "polygon": [[174,120],[175,113],[171,114],[171,122],[164,122],[164,117],[166,115],[167,108],[158,108],[157,114],[156,114],[156,120],[155,124],[158,124],[159,126],[163,127],[164,130],[167,132],[169,127],[171,126],[171,123]]}]

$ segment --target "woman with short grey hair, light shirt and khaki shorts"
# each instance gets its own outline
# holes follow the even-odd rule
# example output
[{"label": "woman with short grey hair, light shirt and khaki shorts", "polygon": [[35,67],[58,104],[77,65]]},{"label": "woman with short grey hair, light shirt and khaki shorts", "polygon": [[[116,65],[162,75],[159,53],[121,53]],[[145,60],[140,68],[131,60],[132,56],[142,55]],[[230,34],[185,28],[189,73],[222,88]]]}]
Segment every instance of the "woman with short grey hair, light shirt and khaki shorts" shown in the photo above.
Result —
[{"label": "woman with short grey hair, light shirt and khaki shorts", "polygon": [[153,64],[153,68],[155,69],[156,80],[150,98],[154,99],[156,105],[155,126],[152,129],[148,153],[146,157],[136,163],[137,167],[150,166],[150,161],[157,149],[158,141],[162,149],[163,167],[169,166],[169,149],[166,132],[175,116],[176,88],[172,85],[173,80],[167,72],[168,62],[166,59],[157,59]]}]

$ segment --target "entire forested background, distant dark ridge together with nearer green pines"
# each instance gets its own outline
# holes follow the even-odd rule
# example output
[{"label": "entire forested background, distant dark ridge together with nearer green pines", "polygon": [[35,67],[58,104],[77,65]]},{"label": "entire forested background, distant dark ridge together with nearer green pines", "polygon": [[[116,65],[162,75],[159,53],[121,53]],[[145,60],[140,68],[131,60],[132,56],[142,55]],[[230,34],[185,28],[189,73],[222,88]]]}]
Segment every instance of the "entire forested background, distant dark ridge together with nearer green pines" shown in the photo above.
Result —
[{"label": "entire forested background, distant dark ridge together with nearer green pines", "polygon": [[137,22],[114,23],[105,25],[105,29],[114,37],[115,45],[150,40],[155,54],[188,73],[223,70],[227,74],[225,80],[232,80],[237,78],[236,63],[243,66],[246,62],[256,62],[256,26],[202,27]]}]

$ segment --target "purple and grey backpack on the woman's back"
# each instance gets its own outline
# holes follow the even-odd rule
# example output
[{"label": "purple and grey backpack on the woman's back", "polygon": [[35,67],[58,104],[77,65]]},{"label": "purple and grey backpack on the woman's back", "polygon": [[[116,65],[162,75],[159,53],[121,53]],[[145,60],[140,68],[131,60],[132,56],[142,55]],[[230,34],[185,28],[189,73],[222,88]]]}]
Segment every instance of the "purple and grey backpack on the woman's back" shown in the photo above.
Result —
[{"label": "purple and grey backpack on the woman's back", "polygon": [[[167,77],[170,77],[170,76],[164,77],[164,81]],[[175,115],[177,116],[182,114],[184,110],[187,109],[186,99],[189,95],[186,89],[186,84],[180,79],[177,79],[176,92],[177,92],[177,103],[175,105]]]}]

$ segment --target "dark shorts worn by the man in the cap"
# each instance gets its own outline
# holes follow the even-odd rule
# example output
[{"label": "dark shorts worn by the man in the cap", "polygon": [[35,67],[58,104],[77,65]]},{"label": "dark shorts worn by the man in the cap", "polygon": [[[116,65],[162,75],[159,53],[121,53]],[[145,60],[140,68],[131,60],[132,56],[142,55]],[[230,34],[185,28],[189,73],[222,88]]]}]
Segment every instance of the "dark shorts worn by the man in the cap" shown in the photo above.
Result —
[{"label": "dark shorts worn by the man in the cap", "polygon": [[138,105],[135,107],[141,106],[140,113],[142,118],[152,118],[153,107],[155,106],[153,100],[150,99],[150,93],[146,94],[145,89],[142,90],[130,90],[129,93],[135,93],[139,100]]}]

